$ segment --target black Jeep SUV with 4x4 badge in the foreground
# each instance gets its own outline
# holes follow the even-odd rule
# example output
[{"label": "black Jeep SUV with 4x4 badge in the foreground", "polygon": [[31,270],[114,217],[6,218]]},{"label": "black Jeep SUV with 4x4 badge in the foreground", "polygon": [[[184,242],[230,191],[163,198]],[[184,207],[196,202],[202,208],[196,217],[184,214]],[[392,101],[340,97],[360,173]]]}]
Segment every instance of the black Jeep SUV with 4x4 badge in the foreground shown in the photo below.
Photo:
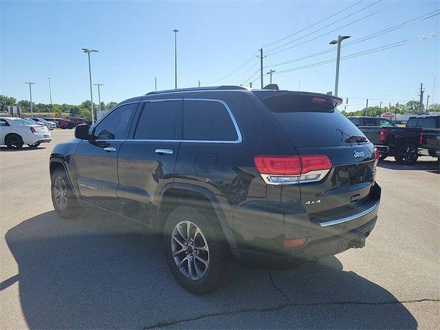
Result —
[{"label": "black Jeep SUV with 4x4 badge in the foreground", "polygon": [[131,98],[54,148],[54,208],[98,206],[159,231],[195,294],[226,283],[236,262],[286,269],[362,248],[379,153],[341,102],[234,86]]}]

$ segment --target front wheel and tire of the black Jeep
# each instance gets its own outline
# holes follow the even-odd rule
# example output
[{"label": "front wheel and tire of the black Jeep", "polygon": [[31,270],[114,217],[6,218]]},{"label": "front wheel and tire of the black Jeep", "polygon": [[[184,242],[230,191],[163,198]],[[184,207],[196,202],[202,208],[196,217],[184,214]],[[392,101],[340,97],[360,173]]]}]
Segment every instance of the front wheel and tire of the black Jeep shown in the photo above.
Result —
[{"label": "front wheel and tire of the black Jeep", "polygon": [[83,212],[83,207],[76,200],[65,170],[57,168],[52,174],[51,181],[50,191],[56,214],[66,219],[78,217]]}]

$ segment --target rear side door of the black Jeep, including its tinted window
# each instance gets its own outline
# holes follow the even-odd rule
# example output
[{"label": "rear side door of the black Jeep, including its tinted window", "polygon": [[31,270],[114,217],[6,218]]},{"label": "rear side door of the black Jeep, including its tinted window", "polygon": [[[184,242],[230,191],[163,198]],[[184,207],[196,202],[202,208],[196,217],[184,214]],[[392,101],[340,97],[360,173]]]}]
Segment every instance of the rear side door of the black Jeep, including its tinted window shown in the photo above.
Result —
[{"label": "rear side door of the black Jeep, including its tinted window", "polygon": [[155,225],[162,189],[173,183],[181,140],[182,100],[144,100],[118,154],[118,205],[124,214]]}]

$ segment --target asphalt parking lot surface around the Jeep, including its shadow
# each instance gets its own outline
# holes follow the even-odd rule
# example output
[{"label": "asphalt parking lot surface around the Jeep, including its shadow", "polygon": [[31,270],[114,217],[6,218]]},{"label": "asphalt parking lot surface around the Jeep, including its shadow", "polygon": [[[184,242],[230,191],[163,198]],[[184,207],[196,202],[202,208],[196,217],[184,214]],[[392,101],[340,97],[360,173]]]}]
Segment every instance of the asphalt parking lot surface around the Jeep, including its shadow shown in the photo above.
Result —
[{"label": "asphalt parking lot surface around the Jeep, including its shadow", "polygon": [[208,296],[174,281],[159,239],[88,210],[56,216],[48,158],[0,148],[0,329],[440,328],[440,173],[380,163],[382,204],[365,248],[291,271],[240,269]]}]

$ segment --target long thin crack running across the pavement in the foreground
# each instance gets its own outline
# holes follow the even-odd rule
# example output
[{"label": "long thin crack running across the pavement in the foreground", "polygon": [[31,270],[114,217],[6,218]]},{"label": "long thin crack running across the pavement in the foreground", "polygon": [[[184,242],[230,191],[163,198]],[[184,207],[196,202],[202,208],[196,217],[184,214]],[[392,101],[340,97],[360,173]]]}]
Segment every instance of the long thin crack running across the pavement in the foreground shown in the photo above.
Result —
[{"label": "long thin crack running across the pavement in the foreground", "polygon": [[378,303],[373,302],[362,302],[362,301],[336,301],[336,302],[329,302],[329,303],[288,303],[288,304],[282,304],[274,307],[267,307],[267,308],[242,308],[238,311],[223,311],[219,313],[212,313],[212,314],[204,314],[200,316],[196,316],[195,318],[183,318],[181,320],[170,320],[170,321],[164,321],[164,322],[157,322],[154,325],[147,325],[146,327],[142,328],[142,330],[147,329],[155,329],[155,328],[162,328],[162,327],[169,327],[172,325],[177,325],[181,322],[190,322],[195,320],[200,320],[202,318],[210,318],[212,316],[227,316],[227,315],[239,315],[244,313],[250,313],[255,311],[265,312],[265,311],[280,311],[281,309],[285,309],[287,307],[315,307],[315,306],[329,306],[329,305],[393,305],[393,304],[408,304],[408,303],[423,303],[423,302],[434,302],[434,303],[440,303],[440,299],[412,299],[412,300],[394,300],[394,301],[383,301]]}]

